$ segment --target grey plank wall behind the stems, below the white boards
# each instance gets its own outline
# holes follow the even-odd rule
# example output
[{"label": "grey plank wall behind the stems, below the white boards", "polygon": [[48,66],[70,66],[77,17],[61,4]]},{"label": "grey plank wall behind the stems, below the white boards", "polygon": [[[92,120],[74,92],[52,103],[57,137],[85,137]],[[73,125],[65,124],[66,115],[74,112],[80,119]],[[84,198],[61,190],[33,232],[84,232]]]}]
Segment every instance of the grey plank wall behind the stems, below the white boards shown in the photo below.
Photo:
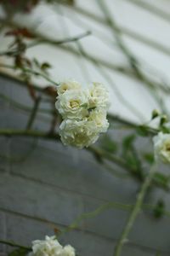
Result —
[{"label": "grey plank wall behind the stems, below the white boards", "polygon": [[[31,107],[26,89],[18,85],[0,77],[1,93]],[[38,117],[34,128],[46,131],[49,119]],[[28,113],[0,100],[1,128],[25,128],[27,119]],[[114,136],[119,139],[121,131]],[[23,245],[53,235],[54,229],[65,228],[81,213],[106,202],[133,203],[139,189],[133,179],[106,171],[86,150],[65,148],[57,141],[0,137],[0,155],[0,239]],[[163,198],[168,209],[170,197],[161,189],[152,191],[146,201],[154,203],[157,198]],[[111,256],[127,214],[108,209],[96,218],[82,220],[77,230],[66,233],[60,241],[76,247],[82,256]],[[160,249],[161,255],[169,256],[169,241],[170,218],[156,220],[150,212],[141,212],[122,255],[153,256]],[[8,250],[0,245],[1,253]]]}]

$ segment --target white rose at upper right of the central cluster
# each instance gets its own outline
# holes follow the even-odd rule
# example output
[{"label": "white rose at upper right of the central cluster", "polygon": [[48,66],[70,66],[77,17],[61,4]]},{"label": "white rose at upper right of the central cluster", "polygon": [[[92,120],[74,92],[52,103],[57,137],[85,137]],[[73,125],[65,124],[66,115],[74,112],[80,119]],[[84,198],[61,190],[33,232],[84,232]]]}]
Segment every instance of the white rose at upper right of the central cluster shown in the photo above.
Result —
[{"label": "white rose at upper right of the central cluster", "polygon": [[92,87],[88,90],[89,94],[89,106],[90,108],[105,108],[110,105],[109,91],[103,84],[93,83]]}]

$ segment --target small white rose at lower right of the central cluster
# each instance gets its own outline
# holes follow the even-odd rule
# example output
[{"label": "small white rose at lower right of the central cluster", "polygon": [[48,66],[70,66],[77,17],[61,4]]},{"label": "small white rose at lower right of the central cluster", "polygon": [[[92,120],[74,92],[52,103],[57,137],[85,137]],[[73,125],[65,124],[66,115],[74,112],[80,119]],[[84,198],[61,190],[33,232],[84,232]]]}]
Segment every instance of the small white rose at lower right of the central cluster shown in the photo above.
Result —
[{"label": "small white rose at lower right of the central cluster", "polygon": [[89,114],[88,120],[94,122],[95,130],[98,132],[106,132],[109,122],[106,119],[107,113],[104,108],[95,108]]}]

